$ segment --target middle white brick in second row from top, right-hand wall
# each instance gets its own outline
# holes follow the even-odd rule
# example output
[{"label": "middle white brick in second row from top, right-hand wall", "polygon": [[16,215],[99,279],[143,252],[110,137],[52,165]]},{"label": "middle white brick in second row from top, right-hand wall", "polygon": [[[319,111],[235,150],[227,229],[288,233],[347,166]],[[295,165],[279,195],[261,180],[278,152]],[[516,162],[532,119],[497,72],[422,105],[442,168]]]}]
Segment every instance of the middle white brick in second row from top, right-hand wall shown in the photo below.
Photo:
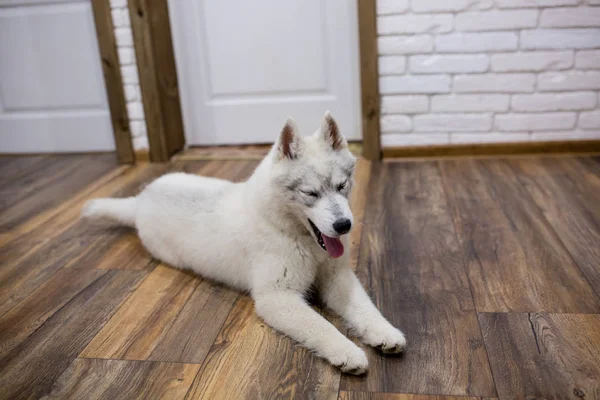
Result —
[{"label": "middle white brick in second row from top, right-hand wall", "polygon": [[457,31],[501,31],[534,28],[537,25],[537,10],[493,10],[464,12],[456,15]]}]

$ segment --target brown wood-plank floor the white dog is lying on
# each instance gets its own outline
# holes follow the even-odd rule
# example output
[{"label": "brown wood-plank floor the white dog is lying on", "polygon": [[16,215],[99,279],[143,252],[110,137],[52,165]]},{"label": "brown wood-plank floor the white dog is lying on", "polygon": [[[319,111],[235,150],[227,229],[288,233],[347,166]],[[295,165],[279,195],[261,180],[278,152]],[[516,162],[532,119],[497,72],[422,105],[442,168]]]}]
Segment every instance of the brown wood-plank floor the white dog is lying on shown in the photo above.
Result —
[{"label": "brown wood-plank floor the white dog is lying on", "polygon": [[78,220],[168,171],[256,163],[0,158],[0,398],[600,399],[599,158],[361,160],[353,263],[408,338],[404,356],[367,349],[364,377]]}]

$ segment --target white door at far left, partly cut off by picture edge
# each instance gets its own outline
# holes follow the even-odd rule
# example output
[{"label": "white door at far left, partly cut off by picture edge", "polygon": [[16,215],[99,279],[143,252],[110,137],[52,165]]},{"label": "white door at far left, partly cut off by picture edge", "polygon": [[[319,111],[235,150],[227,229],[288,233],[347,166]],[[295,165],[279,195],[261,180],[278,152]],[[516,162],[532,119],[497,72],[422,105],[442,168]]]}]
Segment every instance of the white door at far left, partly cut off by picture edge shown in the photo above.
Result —
[{"label": "white door at far left, partly cut off by picture edge", "polygon": [[0,0],[0,153],[115,148],[90,4]]}]

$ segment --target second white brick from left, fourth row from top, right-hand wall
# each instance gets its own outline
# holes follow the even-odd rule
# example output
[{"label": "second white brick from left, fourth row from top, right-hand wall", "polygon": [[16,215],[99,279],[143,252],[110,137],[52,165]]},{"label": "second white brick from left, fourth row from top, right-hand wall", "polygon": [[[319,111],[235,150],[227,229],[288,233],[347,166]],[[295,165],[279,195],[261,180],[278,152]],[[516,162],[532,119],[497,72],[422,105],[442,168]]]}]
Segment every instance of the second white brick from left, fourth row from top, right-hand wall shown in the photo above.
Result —
[{"label": "second white brick from left, fourth row from top, right-hand wall", "polygon": [[485,72],[489,65],[490,60],[485,54],[410,57],[410,71],[417,74]]}]

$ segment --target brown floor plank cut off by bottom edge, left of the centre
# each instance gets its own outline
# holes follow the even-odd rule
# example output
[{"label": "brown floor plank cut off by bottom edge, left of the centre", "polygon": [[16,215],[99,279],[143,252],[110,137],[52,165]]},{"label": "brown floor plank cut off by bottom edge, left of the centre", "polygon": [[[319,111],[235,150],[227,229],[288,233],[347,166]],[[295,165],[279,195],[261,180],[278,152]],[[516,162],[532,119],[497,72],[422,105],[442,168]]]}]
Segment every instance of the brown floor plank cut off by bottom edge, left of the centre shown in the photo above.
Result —
[{"label": "brown floor plank cut off by bottom edge, left of the centre", "polygon": [[76,359],[48,399],[183,399],[199,365]]}]

